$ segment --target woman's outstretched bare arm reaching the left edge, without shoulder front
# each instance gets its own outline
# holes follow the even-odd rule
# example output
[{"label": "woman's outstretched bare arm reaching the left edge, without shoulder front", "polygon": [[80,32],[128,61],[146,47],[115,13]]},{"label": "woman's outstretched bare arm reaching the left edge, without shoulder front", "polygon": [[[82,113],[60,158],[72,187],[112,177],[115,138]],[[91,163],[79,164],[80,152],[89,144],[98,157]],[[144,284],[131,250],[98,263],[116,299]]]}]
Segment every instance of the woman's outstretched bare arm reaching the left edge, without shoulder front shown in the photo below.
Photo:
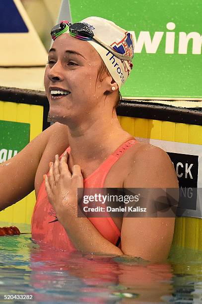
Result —
[{"label": "woman's outstretched bare arm reaching the left edge, without shoulder front", "polygon": [[15,204],[34,190],[35,174],[43,152],[51,135],[61,128],[63,125],[53,124],[22,151],[0,164],[0,210]]}]

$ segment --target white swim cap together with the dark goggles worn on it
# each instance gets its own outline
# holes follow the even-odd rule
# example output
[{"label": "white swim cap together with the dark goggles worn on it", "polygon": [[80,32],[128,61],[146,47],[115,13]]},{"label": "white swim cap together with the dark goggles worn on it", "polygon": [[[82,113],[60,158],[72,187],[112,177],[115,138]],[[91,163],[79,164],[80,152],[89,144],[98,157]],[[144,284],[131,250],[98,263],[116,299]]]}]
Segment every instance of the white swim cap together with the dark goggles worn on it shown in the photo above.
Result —
[{"label": "white swim cap together with the dark goggles worn on it", "polygon": [[51,36],[55,40],[63,33],[90,43],[101,56],[119,88],[122,86],[133,68],[132,33],[101,17],[88,17],[73,24],[63,20],[52,28]]}]

